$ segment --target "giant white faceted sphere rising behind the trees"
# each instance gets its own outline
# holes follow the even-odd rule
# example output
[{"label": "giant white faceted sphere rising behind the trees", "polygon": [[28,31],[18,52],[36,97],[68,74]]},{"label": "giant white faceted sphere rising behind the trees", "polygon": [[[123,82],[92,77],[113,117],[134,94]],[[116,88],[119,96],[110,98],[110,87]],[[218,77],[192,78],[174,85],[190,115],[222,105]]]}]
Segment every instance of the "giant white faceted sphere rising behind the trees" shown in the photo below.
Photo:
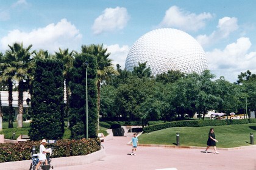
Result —
[{"label": "giant white faceted sphere rising behind the trees", "polygon": [[147,62],[152,74],[180,70],[201,73],[207,69],[202,46],[192,36],[177,29],[157,29],[141,36],[129,50],[126,70]]}]

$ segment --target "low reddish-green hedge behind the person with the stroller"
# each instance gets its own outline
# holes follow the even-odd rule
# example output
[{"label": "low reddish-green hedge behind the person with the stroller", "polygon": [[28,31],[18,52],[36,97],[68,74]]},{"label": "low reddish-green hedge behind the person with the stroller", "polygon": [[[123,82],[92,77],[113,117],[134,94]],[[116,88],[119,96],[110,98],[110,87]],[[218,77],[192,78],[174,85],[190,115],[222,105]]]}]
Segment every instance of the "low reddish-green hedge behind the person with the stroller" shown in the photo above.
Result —
[{"label": "low reddish-green hedge behind the person with the stroller", "polygon": [[[32,146],[38,146],[36,152],[39,152],[40,141],[0,144],[0,163],[31,160]],[[98,138],[89,138],[88,140],[58,140],[57,143],[46,144],[46,148],[54,148],[54,158],[70,157],[87,155],[99,151],[101,149],[101,143]]]}]

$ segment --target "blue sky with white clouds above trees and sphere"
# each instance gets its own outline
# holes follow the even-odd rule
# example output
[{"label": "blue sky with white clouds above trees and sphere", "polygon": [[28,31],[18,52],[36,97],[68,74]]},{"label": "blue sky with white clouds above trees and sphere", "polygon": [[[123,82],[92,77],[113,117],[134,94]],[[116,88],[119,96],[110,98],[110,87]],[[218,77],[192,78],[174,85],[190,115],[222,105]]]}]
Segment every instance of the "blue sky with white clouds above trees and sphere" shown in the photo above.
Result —
[{"label": "blue sky with white clouds above trees and sphere", "polygon": [[8,44],[53,53],[104,44],[124,69],[132,44],[159,28],[180,29],[205,50],[216,78],[256,73],[255,0],[0,0],[0,52]]}]

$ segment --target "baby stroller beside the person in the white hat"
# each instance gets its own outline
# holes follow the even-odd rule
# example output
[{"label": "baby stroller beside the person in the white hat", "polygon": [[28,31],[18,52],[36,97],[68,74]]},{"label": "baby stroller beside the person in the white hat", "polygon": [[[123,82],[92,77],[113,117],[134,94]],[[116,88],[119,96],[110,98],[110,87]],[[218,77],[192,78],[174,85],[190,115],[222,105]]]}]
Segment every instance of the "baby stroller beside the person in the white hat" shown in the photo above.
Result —
[{"label": "baby stroller beside the person in the white hat", "polygon": [[[35,167],[38,164],[39,161],[39,154],[35,154],[35,151],[33,150],[34,148],[32,148],[32,153],[31,153],[31,159],[32,159],[32,163],[30,164],[30,168],[29,170],[35,170]],[[42,170],[49,170],[49,169],[53,169],[53,166],[51,166],[51,161],[52,161],[52,156],[53,156],[53,151],[54,148],[48,148],[46,149],[46,151],[49,152],[49,156],[47,156],[47,161],[48,161],[48,165],[45,165],[45,162],[43,161],[43,163],[41,163],[41,165],[39,166],[38,169],[42,169]]]}]

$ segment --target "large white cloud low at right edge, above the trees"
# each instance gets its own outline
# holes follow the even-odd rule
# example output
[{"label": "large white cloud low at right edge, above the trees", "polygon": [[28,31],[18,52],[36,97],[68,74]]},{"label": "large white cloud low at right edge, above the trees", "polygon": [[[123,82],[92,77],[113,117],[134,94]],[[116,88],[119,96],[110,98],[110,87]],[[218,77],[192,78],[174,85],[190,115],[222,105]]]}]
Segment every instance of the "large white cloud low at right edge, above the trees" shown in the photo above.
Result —
[{"label": "large white cloud low at right edge, above the trees", "polygon": [[208,67],[219,76],[229,81],[236,81],[241,72],[256,72],[256,52],[249,52],[252,43],[249,38],[242,37],[226,46],[224,50],[215,49],[206,52]]}]

